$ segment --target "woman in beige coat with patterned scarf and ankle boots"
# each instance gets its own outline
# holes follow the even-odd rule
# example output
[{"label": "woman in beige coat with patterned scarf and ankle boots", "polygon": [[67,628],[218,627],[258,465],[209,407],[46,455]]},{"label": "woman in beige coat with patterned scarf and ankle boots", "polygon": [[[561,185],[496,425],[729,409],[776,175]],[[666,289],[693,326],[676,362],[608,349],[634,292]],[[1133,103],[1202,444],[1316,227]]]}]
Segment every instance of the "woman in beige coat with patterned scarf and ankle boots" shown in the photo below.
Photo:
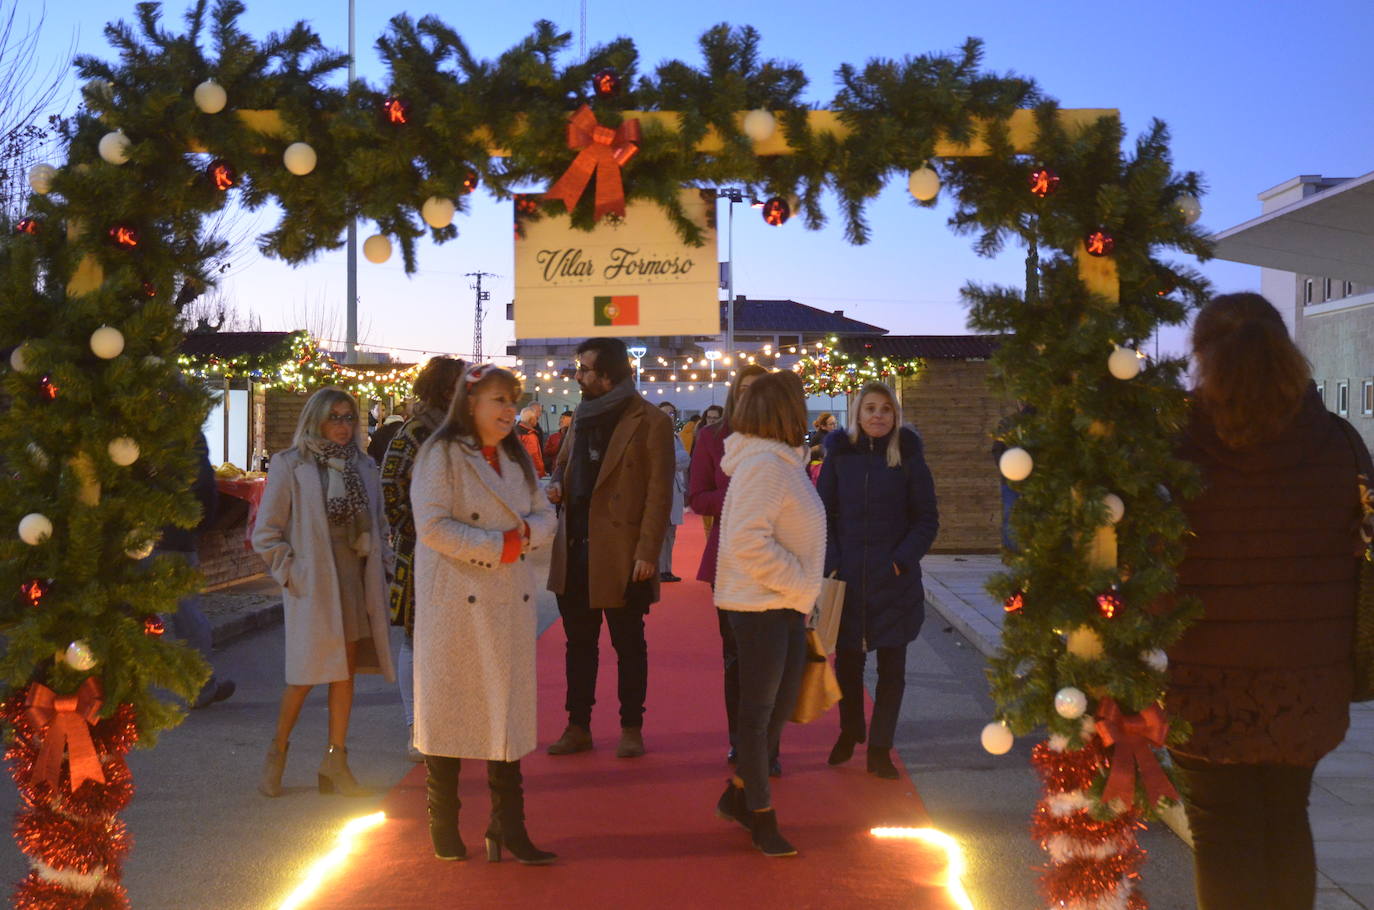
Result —
[{"label": "woman in beige coat with patterned scarf and ankle boots", "polygon": [[272,458],[253,529],[253,548],[282,586],[286,691],[258,790],[280,796],[286,751],[305,697],[330,687],[330,742],[320,793],[365,796],[348,767],[353,675],[394,682],[387,639],[386,575],[392,562],[376,465],[342,389],[305,403],[293,447]]}]

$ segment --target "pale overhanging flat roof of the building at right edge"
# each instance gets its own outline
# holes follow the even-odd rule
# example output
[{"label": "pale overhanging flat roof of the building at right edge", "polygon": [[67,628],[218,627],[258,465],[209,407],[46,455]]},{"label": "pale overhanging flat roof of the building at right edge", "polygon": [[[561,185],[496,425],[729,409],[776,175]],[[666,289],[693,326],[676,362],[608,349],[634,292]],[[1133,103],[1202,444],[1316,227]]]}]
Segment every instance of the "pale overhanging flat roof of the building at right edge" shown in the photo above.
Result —
[{"label": "pale overhanging flat roof of the building at right edge", "polygon": [[1217,258],[1374,285],[1374,172],[1320,184],[1297,202],[1215,234]]}]

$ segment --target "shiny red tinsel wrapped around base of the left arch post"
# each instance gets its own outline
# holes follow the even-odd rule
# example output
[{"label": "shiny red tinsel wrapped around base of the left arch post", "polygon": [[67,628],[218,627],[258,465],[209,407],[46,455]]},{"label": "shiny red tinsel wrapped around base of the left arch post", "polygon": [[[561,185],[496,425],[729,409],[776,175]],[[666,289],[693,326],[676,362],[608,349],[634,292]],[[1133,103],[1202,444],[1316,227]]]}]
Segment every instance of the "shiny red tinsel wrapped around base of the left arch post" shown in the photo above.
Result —
[{"label": "shiny red tinsel wrapped around base of the left arch post", "polygon": [[22,806],[14,836],[36,863],[74,874],[99,873],[96,891],[82,892],[30,872],[15,888],[14,906],[26,910],[124,910],[129,906],[121,863],[132,847],[117,814],[133,797],[133,775],[124,756],[137,742],[133,707],[122,704],[91,727],[91,740],[104,771],[104,784],[85,781],[71,790],[70,767],[62,764],[58,786],[34,779],[34,764],[45,731],[25,712],[23,694],[0,702],[0,720],[14,735],[5,749],[10,774]]}]

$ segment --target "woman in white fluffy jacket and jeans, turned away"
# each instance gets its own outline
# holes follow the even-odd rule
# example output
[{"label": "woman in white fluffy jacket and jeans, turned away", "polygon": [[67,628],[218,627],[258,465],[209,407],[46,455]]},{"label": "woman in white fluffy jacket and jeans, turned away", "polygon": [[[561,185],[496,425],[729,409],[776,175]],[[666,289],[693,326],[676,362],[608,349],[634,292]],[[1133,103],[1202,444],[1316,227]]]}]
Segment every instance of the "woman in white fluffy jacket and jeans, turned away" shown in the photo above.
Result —
[{"label": "woman in white fluffy jacket and jeans, turned away", "polygon": [[826,511],[807,477],[801,379],[769,373],[750,385],[725,439],[730,489],[720,513],[716,606],[739,647],[739,763],[716,804],[768,856],[797,850],[778,832],[768,756],[778,749],[807,664],[807,614],[820,592]]}]

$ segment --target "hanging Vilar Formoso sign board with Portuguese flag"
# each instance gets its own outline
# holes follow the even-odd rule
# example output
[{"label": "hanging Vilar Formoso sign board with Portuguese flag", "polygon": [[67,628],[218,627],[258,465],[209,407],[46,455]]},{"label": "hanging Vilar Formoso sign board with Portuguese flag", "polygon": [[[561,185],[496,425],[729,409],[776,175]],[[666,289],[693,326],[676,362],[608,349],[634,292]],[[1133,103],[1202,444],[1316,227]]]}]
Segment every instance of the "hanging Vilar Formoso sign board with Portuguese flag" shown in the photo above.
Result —
[{"label": "hanging Vilar Formoso sign board with Portuguese flag", "polygon": [[702,246],[683,242],[653,202],[631,202],[592,231],[562,214],[526,221],[515,238],[515,338],[719,334],[713,201],[684,190],[682,202]]}]

